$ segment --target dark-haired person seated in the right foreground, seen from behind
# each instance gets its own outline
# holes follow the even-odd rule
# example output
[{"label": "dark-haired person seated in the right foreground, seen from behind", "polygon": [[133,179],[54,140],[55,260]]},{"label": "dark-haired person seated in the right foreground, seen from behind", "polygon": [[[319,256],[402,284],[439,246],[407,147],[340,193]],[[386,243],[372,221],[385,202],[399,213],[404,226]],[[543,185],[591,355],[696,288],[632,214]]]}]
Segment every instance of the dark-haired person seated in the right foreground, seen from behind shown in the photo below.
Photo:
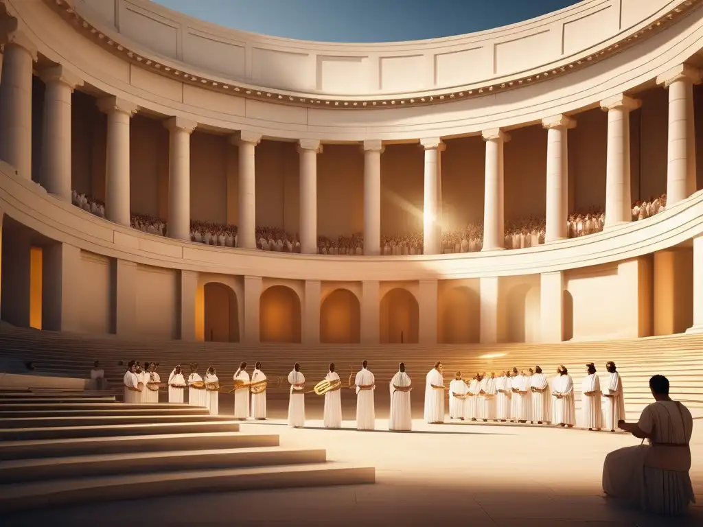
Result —
[{"label": "dark-haired person seated in the right foreground, seen from behind", "polygon": [[689,470],[691,412],[669,397],[669,379],[650,379],[654,403],[645,407],[637,423],[621,420],[618,427],[647,445],[614,450],[603,463],[603,490],[638,505],[647,513],[685,514],[695,503]]}]

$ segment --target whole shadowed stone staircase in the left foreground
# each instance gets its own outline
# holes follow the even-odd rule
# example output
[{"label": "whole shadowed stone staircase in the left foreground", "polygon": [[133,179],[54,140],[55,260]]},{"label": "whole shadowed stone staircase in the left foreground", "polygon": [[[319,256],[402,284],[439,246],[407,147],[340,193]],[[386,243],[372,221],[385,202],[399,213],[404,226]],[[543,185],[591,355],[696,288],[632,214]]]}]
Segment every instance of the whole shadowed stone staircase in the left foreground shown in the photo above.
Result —
[{"label": "whole shadowed stone staircase in the left foreground", "polygon": [[[254,427],[252,427],[254,428]],[[255,427],[263,429],[264,427]],[[188,405],[0,391],[0,512],[179,493],[374,483],[375,469],[281,448]]]}]

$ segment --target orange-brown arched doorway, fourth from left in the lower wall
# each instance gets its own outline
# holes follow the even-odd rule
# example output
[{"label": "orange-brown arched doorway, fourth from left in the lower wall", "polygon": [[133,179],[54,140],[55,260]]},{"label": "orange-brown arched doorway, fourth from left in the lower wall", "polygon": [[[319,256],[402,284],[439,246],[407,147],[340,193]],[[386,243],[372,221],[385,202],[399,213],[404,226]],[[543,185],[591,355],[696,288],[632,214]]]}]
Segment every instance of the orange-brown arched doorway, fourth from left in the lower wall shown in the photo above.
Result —
[{"label": "orange-brown arched doorway, fourth from left in the lower wall", "polygon": [[407,289],[396,287],[385,294],[380,307],[381,344],[417,344],[420,307]]}]

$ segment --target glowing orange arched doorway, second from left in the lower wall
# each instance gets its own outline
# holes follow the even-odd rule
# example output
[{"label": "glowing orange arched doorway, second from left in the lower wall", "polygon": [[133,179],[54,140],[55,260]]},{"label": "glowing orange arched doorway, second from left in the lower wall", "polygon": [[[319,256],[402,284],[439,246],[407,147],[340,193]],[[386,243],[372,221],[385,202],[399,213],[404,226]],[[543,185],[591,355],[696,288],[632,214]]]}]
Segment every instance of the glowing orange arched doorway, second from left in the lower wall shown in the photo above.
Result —
[{"label": "glowing orange arched doorway, second from left in the lower wall", "polygon": [[262,342],[300,342],[300,299],[290,287],[274,285],[262,293],[259,339]]}]

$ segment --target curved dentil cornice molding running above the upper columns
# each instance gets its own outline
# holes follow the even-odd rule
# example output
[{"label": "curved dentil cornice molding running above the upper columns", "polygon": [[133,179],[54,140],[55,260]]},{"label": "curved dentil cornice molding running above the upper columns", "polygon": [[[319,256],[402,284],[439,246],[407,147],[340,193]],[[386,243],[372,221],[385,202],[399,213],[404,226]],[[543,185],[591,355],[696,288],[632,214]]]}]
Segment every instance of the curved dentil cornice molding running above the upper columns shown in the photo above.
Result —
[{"label": "curved dentil cornice molding running above the upper columns", "polygon": [[406,95],[401,97],[379,96],[378,98],[367,97],[363,99],[335,98],[334,96],[318,96],[314,94],[303,96],[302,94],[296,94],[290,91],[267,89],[262,86],[251,86],[240,82],[227,81],[226,79],[214,75],[195,72],[195,68],[185,63],[179,63],[176,60],[170,59],[162,60],[161,58],[156,58],[155,54],[153,56],[147,56],[146,53],[135,51],[130,47],[131,44],[125,44],[127,39],[124,39],[122,35],[117,32],[110,32],[109,35],[106,34],[108,33],[107,30],[100,29],[89,20],[83,18],[67,0],[44,0],[44,3],[59,13],[67,22],[70,22],[77,31],[81,32],[94,44],[109,50],[111,53],[120,56],[129,63],[138,65],[138,67],[142,67],[145,70],[163,77],[193,84],[200,88],[253,100],[265,100],[272,103],[309,108],[335,108],[337,110],[373,110],[375,108],[406,108],[434,105],[492,95],[523,86],[531,86],[538,82],[544,82],[554,77],[561,77],[570,72],[581,70],[584,67],[588,67],[589,65],[614,56],[637,44],[639,41],[650,38],[654,34],[666,29],[666,27],[673,25],[677,20],[681,20],[685,15],[688,15],[703,5],[702,0],[681,0],[679,4],[671,8],[670,11],[657,20],[654,20],[654,22],[645,27],[641,27],[634,33],[624,36],[621,40],[608,44],[592,53],[588,53],[586,56],[576,58],[569,63],[560,64],[555,67],[548,67],[546,65],[541,72],[536,74],[510,79],[506,82],[496,81],[479,86],[472,86],[470,89],[447,89],[437,91],[437,93],[432,93],[431,95],[423,94],[413,97]]}]

